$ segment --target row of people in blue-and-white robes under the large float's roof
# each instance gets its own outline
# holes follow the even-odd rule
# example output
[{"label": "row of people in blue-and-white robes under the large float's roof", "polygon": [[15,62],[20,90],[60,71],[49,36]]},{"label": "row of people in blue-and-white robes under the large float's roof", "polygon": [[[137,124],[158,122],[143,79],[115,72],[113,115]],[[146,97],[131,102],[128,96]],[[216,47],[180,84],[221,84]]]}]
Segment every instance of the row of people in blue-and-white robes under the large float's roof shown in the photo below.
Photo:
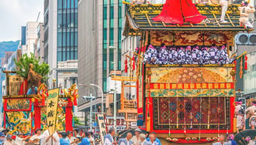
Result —
[{"label": "row of people in blue-and-white robes under the large float's roof", "polygon": [[233,62],[227,54],[227,46],[187,46],[167,47],[162,44],[161,48],[148,46],[144,53],[144,64],[168,65],[168,64],[228,64]]}]

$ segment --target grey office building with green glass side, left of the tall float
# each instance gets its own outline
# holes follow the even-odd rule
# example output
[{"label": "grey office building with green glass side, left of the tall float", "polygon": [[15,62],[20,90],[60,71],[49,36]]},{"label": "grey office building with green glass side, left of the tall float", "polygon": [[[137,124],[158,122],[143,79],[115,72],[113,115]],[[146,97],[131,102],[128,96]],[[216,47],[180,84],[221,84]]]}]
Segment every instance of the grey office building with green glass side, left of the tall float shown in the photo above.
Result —
[{"label": "grey office building with green glass side, left of the tall float", "polygon": [[[107,79],[114,70],[121,69],[121,38],[124,5],[122,0],[78,1],[78,83],[94,83],[108,92]],[[109,49],[112,46],[114,49]],[[87,95],[92,89],[79,86],[79,94]],[[97,90],[97,106],[101,93]],[[105,101],[105,100],[104,100]],[[89,103],[78,101],[78,110],[88,110]]]}]

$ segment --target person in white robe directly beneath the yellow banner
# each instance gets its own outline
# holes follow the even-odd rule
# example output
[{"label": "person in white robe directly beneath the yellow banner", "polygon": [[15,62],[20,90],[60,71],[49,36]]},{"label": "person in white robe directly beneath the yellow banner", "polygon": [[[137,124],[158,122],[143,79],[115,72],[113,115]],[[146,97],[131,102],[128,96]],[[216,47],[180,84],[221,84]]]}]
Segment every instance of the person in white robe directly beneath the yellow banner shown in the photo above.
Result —
[{"label": "person in white robe directly beneath the yellow banner", "polygon": [[41,144],[43,145],[59,145],[60,144],[60,137],[57,132],[53,133],[50,136],[49,130],[43,131]]}]

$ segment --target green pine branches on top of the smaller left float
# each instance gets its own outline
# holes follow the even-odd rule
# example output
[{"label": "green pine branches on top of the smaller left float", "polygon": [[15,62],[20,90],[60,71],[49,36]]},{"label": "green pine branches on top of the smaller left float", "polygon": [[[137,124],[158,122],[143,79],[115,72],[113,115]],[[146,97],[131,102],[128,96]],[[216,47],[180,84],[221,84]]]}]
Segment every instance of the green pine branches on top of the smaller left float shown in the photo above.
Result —
[{"label": "green pine branches on top of the smaller left float", "polygon": [[22,55],[22,57],[19,59],[19,62],[17,62],[16,59],[13,59],[13,60],[16,63],[16,73],[19,76],[27,79],[27,76],[29,73],[29,63],[32,63],[33,70],[43,77],[43,80],[42,80],[43,83],[47,82],[47,79],[49,79],[49,77],[47,77],[47,74],[50,71],[49,69],[50,66],[45,62],[43,62],[42,64],[39,64],[40,58],[36,59],[33,53],[30,53],[30,57],[27,56],[27,54]]}]

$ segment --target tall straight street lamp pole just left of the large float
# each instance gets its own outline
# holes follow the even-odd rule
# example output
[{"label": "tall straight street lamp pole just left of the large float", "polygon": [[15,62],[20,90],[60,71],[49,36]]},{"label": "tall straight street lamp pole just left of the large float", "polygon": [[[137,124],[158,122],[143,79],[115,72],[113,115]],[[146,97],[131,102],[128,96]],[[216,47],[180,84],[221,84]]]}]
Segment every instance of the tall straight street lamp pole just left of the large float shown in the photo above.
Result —
[{"label": "tall straight street lamp pole just left of the large float", "polygon": [[[114,75],[116,76],[116,57],[115,57],[115,52],[116,52],[116,47],[115,46],[109,46],[109,49],[114,49],[114,62],[112,62],[114,64]],[[115,80],[115,88],[114,88],[114,128],[116,130],[116,80]]]}]

